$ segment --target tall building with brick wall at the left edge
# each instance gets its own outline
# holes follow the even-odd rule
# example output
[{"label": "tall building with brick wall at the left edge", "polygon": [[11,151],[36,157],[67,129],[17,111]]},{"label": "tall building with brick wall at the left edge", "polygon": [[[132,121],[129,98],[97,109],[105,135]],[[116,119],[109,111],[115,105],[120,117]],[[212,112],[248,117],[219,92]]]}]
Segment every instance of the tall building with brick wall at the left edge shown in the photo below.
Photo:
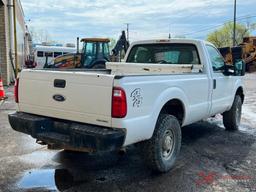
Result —
[{"label": "tall building with brick wall at the left edge", "polygon": [[[13,1],[16,1],[17,58],[14,58]],[[4,85],[14,80],[15,59],[19,68],[24,65],[29,54],[28,40],[29,33],[20,0],[0,0],[0,76]]]}]

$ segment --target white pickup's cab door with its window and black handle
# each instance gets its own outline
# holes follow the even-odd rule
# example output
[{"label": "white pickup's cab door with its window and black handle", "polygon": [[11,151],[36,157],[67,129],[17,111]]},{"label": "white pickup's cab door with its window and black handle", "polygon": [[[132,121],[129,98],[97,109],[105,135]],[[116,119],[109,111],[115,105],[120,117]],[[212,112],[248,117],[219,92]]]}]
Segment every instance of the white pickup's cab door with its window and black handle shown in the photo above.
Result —
[{"label": "white pickup's cab door with its window and black handle", "polygon": [[212,74],[212,105],[210,114],[215,115],[226,111],[233,102],[232,93],[235,77],[223,74],[225,62],[219,51],[211,45],[206,45],[206,48],[209,54]]}]

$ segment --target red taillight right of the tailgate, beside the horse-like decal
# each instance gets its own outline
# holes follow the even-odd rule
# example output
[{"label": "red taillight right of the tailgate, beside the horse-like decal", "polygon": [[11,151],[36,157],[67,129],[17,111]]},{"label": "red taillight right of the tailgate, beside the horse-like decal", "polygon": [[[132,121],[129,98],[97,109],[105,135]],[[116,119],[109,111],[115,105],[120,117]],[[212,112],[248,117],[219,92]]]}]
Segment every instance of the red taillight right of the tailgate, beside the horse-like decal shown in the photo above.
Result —
[{"label": "red taillight right of the tailgate, beside the horse-like decal", "polygon": [[127,102],[125,91],[122,88],[114,87],[112,93],[112,117],[124,118],[127,114]]}]

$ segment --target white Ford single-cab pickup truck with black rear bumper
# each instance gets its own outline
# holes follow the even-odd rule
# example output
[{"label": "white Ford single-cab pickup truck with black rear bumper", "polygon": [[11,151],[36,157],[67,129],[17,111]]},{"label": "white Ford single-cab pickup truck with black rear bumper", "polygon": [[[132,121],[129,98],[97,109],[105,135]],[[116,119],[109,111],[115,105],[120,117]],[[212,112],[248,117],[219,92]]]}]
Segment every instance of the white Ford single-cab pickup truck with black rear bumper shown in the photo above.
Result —
[{"label": "white Ford single-cab pickup truck with black rear bumper", "polygon": [[243,62],[225,64],[201,40],[133,43],[123,63],[105,70],[26,69],[15,85],[16,131],[63,149],[111,151],[141,143],[148,165],[170,170],[181,127],[223,115],[237,130],[244,101]]}]

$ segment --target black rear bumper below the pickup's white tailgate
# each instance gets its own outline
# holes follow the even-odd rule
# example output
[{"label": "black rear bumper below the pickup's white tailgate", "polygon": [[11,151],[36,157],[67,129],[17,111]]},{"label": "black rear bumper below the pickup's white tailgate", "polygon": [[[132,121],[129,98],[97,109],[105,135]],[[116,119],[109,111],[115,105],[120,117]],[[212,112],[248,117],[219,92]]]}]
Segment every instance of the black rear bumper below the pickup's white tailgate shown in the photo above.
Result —
[{"label": "black rear bumper below the pickup's white tailgate", "polygon": [[64,121],[23,112],[9,114],[11,127],[43,141],[72,148],[94,151],[120,149],[125,140],[125,129]]}]

